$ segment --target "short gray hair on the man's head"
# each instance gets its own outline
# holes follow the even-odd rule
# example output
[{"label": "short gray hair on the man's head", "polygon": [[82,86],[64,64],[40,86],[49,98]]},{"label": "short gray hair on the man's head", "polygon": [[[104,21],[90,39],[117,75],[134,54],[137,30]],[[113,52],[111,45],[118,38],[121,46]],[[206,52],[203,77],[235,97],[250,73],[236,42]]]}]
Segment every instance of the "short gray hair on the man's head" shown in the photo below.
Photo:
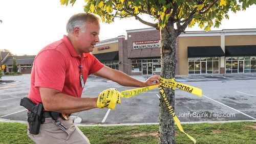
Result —
[{"label": "short gray hair on the man's head", "polygon": [[85,32],[86,22],[100,23],[100,17],[93,13],[78,13],[70,17],[66,30],[67,33],[73,33],[74,28],[78,27],[82,32]]}]

